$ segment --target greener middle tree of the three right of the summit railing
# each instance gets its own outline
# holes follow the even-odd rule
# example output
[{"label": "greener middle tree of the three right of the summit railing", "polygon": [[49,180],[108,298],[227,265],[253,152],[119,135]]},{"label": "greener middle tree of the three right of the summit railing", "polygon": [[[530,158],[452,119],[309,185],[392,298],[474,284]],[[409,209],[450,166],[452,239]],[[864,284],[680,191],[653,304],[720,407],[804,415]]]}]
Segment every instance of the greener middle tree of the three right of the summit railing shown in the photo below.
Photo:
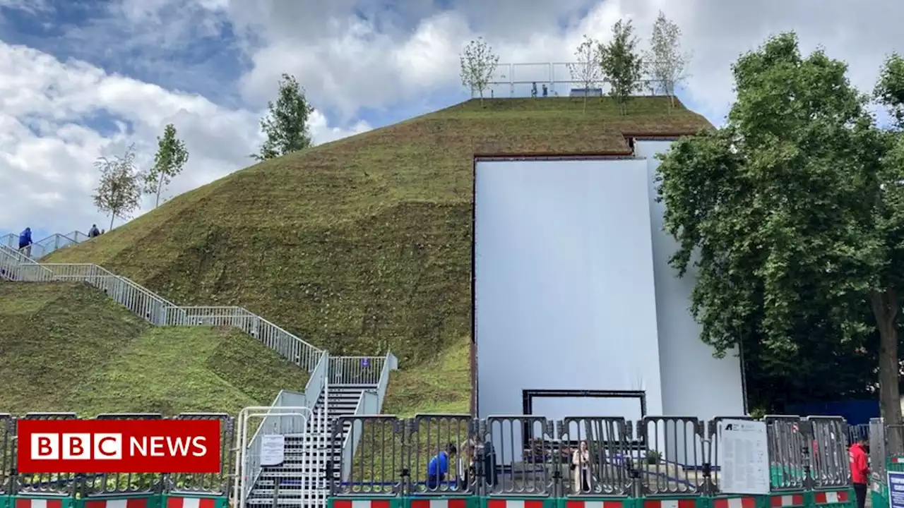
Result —
[{"label": "greener middle tree of the three right of the summit railing", "polygon": [[631,21],[618,20],[612,26],[612,41],[602,44],[599,52],[603,80],[611,87],[609,95],[616,99],[624,115],[628,99],[643,87],[644,59],[637,52],[637,38]]}]

